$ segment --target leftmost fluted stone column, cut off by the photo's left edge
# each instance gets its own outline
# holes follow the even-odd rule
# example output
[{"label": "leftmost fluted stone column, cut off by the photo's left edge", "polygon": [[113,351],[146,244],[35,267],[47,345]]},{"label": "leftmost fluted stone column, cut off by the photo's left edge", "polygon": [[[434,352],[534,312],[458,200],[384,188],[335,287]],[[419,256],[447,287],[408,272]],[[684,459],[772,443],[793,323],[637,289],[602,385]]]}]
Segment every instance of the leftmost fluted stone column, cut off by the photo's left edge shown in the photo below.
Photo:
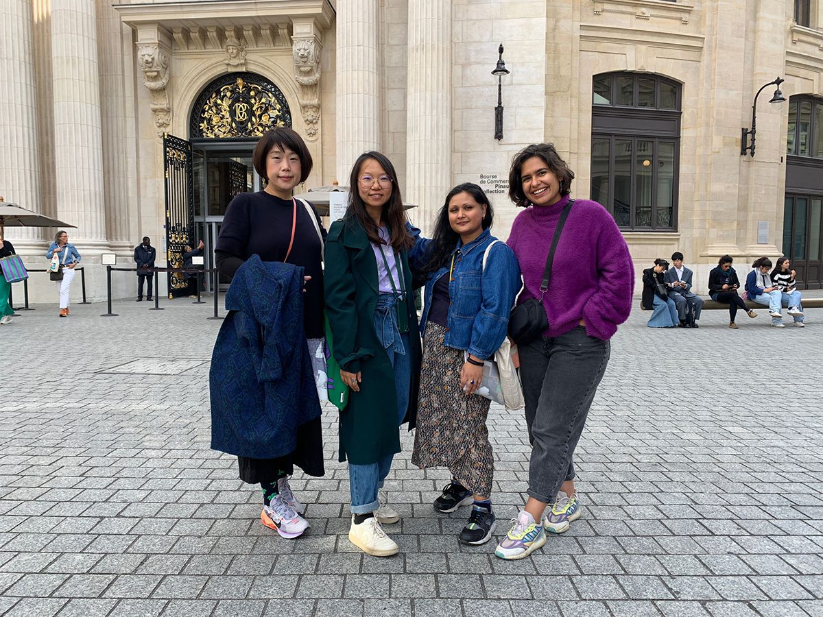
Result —
[{"label": "leftmost fluted stone column, cut off by the photo's left edge", "polygon": [[[35,50],[30,0],[4,0],[0,5],[0,196],[40,212],[40,160],[37,144]],[[8,239],[43,244],[40,228],[9,228]]]}]

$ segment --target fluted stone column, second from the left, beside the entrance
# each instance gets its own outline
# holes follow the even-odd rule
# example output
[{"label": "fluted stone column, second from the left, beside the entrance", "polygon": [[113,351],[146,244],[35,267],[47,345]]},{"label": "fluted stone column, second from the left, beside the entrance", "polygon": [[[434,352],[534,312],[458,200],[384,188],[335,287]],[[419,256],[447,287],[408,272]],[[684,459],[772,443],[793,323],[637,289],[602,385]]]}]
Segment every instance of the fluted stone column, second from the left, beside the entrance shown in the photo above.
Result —
[{"label": "fluted stone column, second from the left, beside the entrance", "polygon": [[86,253],[108,249],[94,0],[53,0],[52,72],[58,218]]}]

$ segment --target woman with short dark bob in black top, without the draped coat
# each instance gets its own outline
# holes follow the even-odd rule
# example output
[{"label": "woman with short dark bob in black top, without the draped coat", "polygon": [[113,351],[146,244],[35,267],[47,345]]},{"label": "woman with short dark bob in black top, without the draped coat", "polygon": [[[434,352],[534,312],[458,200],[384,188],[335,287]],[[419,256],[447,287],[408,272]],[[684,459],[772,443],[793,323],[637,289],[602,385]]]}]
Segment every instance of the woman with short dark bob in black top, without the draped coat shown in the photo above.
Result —
[{"label": "woman with short dark bob in black top, without the draped coat", "polygon": [[[278,127],[261,137],[254,150],[253,162],[254,169],[267,182],[266,188],[258,193],[239,193],[231,200],[217,238],[217,270],[226,276],[234,276],[252,255],[258,255],[263,262],[286,262],[303,267],[306,277],[305,335],[308,339],[322,338],[321,262],[326,230],[314,206],[309,204],[309,214],[302,203],[294,202],[291,197],[294,188],[305,182],[311,173],[309,149],[291,128]],[[296,438],[295,452],[285,457],[238,457],[240,479],[249,484],[259,482],[263,489],[263,525],[288,538],[300,536],[309,527],[301,517],[304,506],[295,499],[289,486],[294,466],[299,466],[309,476],[324,474],[320,419],[301,424]]]}]

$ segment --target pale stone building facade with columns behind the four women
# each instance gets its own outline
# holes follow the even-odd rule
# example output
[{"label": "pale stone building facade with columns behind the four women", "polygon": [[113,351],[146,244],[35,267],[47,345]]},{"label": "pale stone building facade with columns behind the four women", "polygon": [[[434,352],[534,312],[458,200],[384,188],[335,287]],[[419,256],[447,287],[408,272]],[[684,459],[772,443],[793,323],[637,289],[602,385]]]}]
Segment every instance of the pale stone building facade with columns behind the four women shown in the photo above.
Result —
[{"label": "pale stone building facade with columns behind the four women", "polygon": [[[105,295],[100,255],[129,265],[143,235],[173,265],[184,244],[213,246],[230,197],[260,188],[251,151],[276,123],[314,156],[304,188],[346,183],[356,156],[378,149],[419,204],[418,225],[430,229],[449,188],[473,181],[502,238],[517,214],[512,155],[552,141],[574,196],[614,214],[638,271],[680,250],[704,293],[723,254],[745,271],[750,257],[785,252],[808,286],[823,285],[823,0],[2,7],[0,195],[77,225],[92,298]],[[497,140],[500,43],[510,72]],[[775,77],[787,102],[763,90],[756,152],[742,155],[752,101]],[[52,231],[7,237],[36,263]],[[33,299],[50,301],[36,276]],[[133,295],[131,276],[114,282]]]}]

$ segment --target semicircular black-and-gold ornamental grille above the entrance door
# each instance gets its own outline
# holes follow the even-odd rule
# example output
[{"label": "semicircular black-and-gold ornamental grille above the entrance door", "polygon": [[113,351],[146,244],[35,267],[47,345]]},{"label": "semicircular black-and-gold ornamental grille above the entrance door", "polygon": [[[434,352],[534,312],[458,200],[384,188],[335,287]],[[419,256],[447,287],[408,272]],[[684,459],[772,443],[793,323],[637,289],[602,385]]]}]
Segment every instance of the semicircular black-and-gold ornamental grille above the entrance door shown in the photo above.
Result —
[{"label": "semicircular black-and-gold ornamental grille above the entrance door", "polygon": [[291,127],[281,90],[265,77],[230,73],[212,81],[194,105],[191,136],[212,139],[261,137],[274,127]]}]

